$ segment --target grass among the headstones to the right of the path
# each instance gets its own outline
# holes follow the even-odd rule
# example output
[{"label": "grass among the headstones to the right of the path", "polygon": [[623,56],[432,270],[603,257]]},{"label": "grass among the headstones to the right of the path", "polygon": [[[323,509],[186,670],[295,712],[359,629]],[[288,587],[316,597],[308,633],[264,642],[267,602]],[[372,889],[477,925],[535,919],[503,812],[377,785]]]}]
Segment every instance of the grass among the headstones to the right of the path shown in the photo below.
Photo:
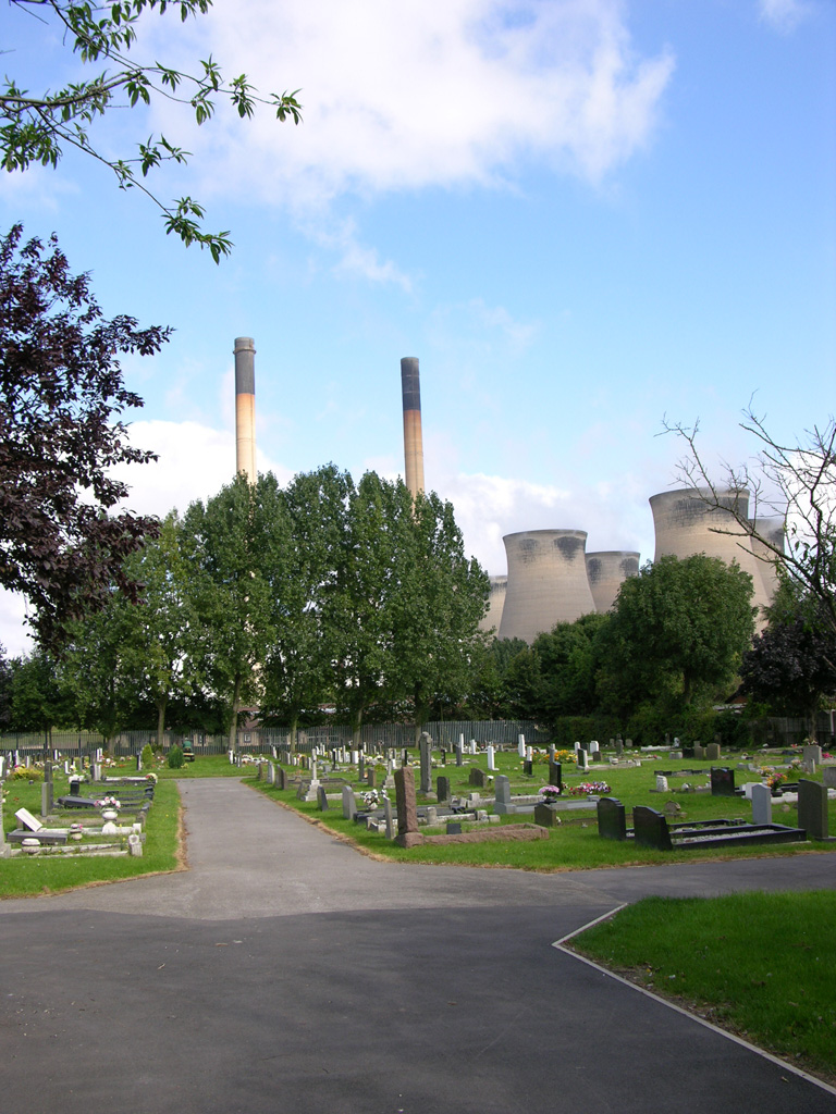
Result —
[{"label": "grass among the headstones to the right of the path", "polygon": [[[729,759],[729,765],[735,765],[736,760]],[[482,762],[475,761],[473,765],[485,769],[484,758]],[[668,801],[675,801],[683,811],[682,817],[674,818],[688,820],[711,820],[719,818],[741,818],[750,819],[751,805],[742,798],[720,798],[711,797],[710,793],[655,793],[655,768],[662,770],[696,769],[704,768],[704,774],[692,776],[692,783],[707,781],[711,763],[694,763],[692,760],[664,759],[661,762],[647,762],[641,768],[593,768],[586,775],[580,773],[564,772],[564,784],[577,784],[582,780],[605,779],[611,786],[611,795],[619,798],[628,809],[628,815],[636,804],[647,804],[651,808],[662,810]],[[472,766],[435,766],[434,778],[444,773],[451,779],[453,795],[464,795],[473,790],[468,784],[469,769]],[[564,766],[564,771],[565,771]],[[573,768],[570,768],[573,769]],[[298,773],[298,770],[286,768],[288,772]],[[516,755],[500,753],[497,755],[497,773],[505,773],[511,778],[512,792],[514,794],[535,794],[541,785],[547,782],[547,768],[535,766],[535,775],[525,778],[521,772],[521,766]],[[742,771],[738,772],[738,781],[743,781]],[[363,786],[348,772],[343,771],[337,776],[344,778],[358,794],[358,804],[362,803]],[[747,780],[755,780],[755,774],[747,774]],[[820,775],[817,775],[820,780]],[[269,786],[264,781],[256,781],[253,776],[246,776],[245,781],[253,788],[261,790],[269,797],[278,800],[288,808],[294,809],[311,822],[323,824],[330,830],[338,832],[343,839],[349,840],[360,851],[372,854],[381,859],[390,859],[400,862],[439,863],[445,866],[472,866],[493,868],[516,868],[535,871],[561,871],[561,870],[590,870],[606,867],[628,866],[657,866],[678,862],[704,862],[710,860],[740,859],[740,858],[774,858],[778,856],[816,853],[830,849],[830,844],[797,843],[776,844],[772,847],[755,846],[749,848],[727,847],[715,848],[711,851],[696,850],[673,850],[655,851],[651,848],[641,848],[630,842],[615,842],[602,839],[597,834],[597,819],[595,805],[582,811],[561,813],[562,822],[560,827],[553,828],[548,832],[548,839],[532,840],[531,842],[516,841],[487,841],[484,843],[448,843],[448,844],[424,844],[405,849],[387,840],[386,837],[376,832],[367,832],[361,824],[344,820],[342,807],[339,800],[332,800],[328,811],[319,810],[315,802],[304,802],[297,799],[295,789],[278,790]],[[329,792],[338,794],[339,790],[331,786]],[[392,801],[393,801],[393,794]],[[418,804],[428,803],[418,794]],[[795,805],[788,805],[788,811],[776,801],[774,819],[777,823],[795,827],[798,820],[798,812]],[[378,810],[382,818],[382,810]],[[516,814],[504,817],[503,824],[533,823],[533,814]],[[836,830],[836,801],[829,805],[830,830]],[[468,825],[465,824],[465,831]],[[483,829],[484,830],[484,829]],[[492,825],[489,830],[495,830]],[[444,827],[436,829],[421,828],[421,832],[431,834],[443,834]]]}]

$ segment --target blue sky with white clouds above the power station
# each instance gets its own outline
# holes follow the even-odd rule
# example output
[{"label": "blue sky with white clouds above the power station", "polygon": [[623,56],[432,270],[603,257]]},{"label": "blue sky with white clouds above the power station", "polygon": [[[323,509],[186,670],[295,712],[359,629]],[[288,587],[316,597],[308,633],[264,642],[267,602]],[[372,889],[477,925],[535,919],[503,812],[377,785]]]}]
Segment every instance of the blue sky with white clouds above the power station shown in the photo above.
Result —
[{"label": "blue sky with white clouds above the power station", "polygon": [[[4,17],[6,71],[77,76],[60,37]],[[791,440],[834,411],[836,4],[832,0],[215,0],[152,17],[138,55],[210,52],[304,123],[176,106],[114,111],[116,155],[161,129],[194,153],[149,179],[191,194],[232,257],[166,237],[154,206],[68,155],[0,178],[3,227],[57,232],[108,315],[176,332],[129,361],[145,399],[128,505],[165,514],[234,470],[233,340],[255,339],[259,463],[402,472],[399,361],[420,360],[427,486],[468,550],[589,531],[653,556],[675,486],[662,421],[747,459],[755,409]],[[719,471],[719,469],[718,469]],[[20,600],[0,641],[23,648]]]}]

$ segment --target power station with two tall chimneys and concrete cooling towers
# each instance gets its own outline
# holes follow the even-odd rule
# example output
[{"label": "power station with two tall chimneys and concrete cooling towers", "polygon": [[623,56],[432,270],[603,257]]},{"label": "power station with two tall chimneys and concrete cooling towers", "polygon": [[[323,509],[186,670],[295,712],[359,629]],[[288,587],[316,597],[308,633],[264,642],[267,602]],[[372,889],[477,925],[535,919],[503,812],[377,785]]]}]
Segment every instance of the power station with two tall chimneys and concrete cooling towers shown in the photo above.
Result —
[{"label": "power station with two tall chimneys and concrete cooling towers", "polygon": [[[255,343],[237,336],[235,355],[235,470],[255,483]],[[424,442],[421,431],[421,387],[416,356],[400,361],[404,409],[404,476],[412,498],[424,491]],[[752,603],[760,609],[772,599],[778,586],[768,546],[741,534],[736,516],[748,516],[748,491],[719,492],[720,507],[708,504],[708,489],[690,488],[651,496],[655,530],[655,555],[679,558],[694,554],[737,561],[752,578]],[[758,519],[758,532],[782,551],[785,521]],[[607,612],[619,589],[639,571],[640,555],[612,549],[587,554],[586,532],[572,529],[522,530],[503,538],[508,561],[506,576],[490,577],[488,609],[479,624],[499,638],[534,642],[555,623],[573,623],[592,612]],[[767,558],[766,560],[764,558]]]}]

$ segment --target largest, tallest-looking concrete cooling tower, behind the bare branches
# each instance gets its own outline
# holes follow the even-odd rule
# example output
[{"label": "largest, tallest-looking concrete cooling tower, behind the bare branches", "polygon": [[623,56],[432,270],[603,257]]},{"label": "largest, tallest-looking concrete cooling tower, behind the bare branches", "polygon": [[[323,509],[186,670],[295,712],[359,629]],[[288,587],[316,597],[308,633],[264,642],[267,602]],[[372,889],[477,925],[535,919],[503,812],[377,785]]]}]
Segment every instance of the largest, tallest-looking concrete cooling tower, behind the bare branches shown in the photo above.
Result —
[{"label": "largest, tallest-looking concrete cooling tower, behind the bare branches", "polygon": [[[667,554],[679,558],[706,554],[708,557],[720,557],[727,565],[737,561],[752,578],[752,604],[765,607],[769,598],[760,571],[761,561],[752,553],[748,536],[741,536],[740,527],[731,515],[731,509],[735,508],[743,518],[747,517],[749,492],[720,492],[720,500],[729,510],[712,509],[700,498],[701,494],[703,489],[693,491],[686,488],[651,496],[650,507],[657,535],[655,560]],[[708,495],[709,491],[704,489],[704,496]],[[718,529],[735,532],[715,532]]]}]

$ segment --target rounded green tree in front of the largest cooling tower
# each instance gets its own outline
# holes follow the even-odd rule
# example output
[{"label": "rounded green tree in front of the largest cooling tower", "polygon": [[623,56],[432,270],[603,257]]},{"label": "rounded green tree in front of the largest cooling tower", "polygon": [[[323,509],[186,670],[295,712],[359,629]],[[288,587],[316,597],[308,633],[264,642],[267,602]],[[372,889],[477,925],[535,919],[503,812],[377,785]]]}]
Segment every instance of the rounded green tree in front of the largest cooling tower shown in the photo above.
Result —
[{"label": "rounded green tree in front of the largest cooling tower", "polygon": [[755,633],[751,577],[697,554],[648,563],[601,628],[599,692],[614,711],[669,698],[690,706],[730,685]]}]

